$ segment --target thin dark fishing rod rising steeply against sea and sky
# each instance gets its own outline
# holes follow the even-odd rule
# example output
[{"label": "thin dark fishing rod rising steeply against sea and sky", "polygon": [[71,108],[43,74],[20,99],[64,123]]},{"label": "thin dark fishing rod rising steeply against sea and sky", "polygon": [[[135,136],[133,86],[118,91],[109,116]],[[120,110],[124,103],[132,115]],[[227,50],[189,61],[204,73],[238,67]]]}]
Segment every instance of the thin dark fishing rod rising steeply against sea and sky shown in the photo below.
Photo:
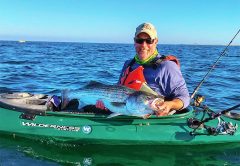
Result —
[{"label": "thin dark fishing rod rising steeply against sea and sky", "polygon": [[236,38],[236,36],[238,35],[238,33],[240,32],[240,29],[238,30],[238,32],[235,34],[235,36],[232,38],[232,40],[228,43],[228,45],[225,47],[225,49],[221,52],[220,56],[218,57],[218,59],[215,61],[215,63],[213,63],[212,67],[208,70],[207,74],[203,77],[202,81],[198,84],[198,86],[194,89],[192,95],[191,95],[191,99],[194,98],[194,96],[196,95],[196,93],[198,92],[199,88],[201,87],[201,85],[203,84],[203,82],[205,81],[205,79],[207,78],[207,76],[210,74],[210,72],[215,68],[215,66],[217,65],[218,61],[220,60],[220,58],[226,54],[226,51],[228,49],[228,47],[232,44],[233,40]]}]

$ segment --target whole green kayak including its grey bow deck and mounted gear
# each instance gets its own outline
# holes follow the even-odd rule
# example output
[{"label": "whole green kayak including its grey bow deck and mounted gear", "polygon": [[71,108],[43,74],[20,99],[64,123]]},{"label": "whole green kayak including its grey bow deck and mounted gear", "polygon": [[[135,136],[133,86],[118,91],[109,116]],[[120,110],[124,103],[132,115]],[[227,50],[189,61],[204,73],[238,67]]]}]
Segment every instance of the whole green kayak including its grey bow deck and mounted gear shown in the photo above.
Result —
[{"label": "whole green kayak including its grey bow deck and mounted gear", "polygon": [[[19,94],[18,94],[19,96]],[[31,97],[31,100],[25,100]],[[44,95],[0,98],[0,133],[74,144],[196,145],[240,142],[239,120],[189,107],[180,114],[148,119],[47,111]],[[42,102],[41,102],[42,101]]]}]

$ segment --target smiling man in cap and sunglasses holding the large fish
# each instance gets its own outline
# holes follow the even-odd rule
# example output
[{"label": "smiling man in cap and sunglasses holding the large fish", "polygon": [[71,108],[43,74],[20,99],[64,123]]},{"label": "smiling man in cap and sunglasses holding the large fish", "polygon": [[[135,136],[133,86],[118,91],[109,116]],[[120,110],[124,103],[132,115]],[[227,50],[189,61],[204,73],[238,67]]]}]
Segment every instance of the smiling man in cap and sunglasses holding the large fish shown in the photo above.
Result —
[{"label": "smiling man in cap and sunglasses holding the large fish", "polygon": [[[134,46],[136,55],[125,62],[119,84],[139,90],[147,83],[155,92],[165,97],[162,103],[152,103],[157,116],[168,115],[172,110],[182,110],[189,105],[190,97],[185,80],[174,56],[162,56],[157,51],[157,31],[151,23],[136,28]],[[102,102],[97,102],[103,108]]]}]

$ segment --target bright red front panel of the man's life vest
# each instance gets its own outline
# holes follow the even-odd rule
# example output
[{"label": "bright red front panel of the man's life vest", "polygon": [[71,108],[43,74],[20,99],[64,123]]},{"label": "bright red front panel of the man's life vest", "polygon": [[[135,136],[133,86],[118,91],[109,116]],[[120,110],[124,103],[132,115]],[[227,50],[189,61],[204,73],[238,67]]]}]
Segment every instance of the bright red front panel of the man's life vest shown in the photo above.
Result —
[{"label": "bright red front panel of the man's life vest", "polygon": [[128,67],[123,73],[120,84],[137,91],[140,90],[142,84],[146,82],[143,75],[143,69],[142,66],[139,66],[135,70],[129,72],[130,67]]}]

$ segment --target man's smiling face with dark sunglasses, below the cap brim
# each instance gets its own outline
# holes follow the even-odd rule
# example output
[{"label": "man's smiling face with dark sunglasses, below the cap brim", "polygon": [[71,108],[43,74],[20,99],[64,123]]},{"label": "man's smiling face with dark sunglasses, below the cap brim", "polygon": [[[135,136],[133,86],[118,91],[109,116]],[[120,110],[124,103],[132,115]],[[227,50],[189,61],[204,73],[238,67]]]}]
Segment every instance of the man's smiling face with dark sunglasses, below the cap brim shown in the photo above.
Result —
[{"label": "man's smiling face with dark sunglasses, below the cap brim", "polygon": [[[139,39],[140,42],[137,40]],[[141,41],[141,39],[149,39],[149,43],[147,41]],[[151,39],[150,36],[146,33],[140,33],[136,38],[134,42],[135,50],[137,52],[137,55],[140,60],[146,60],[149,58],[157,47],[158,39]]]}]

